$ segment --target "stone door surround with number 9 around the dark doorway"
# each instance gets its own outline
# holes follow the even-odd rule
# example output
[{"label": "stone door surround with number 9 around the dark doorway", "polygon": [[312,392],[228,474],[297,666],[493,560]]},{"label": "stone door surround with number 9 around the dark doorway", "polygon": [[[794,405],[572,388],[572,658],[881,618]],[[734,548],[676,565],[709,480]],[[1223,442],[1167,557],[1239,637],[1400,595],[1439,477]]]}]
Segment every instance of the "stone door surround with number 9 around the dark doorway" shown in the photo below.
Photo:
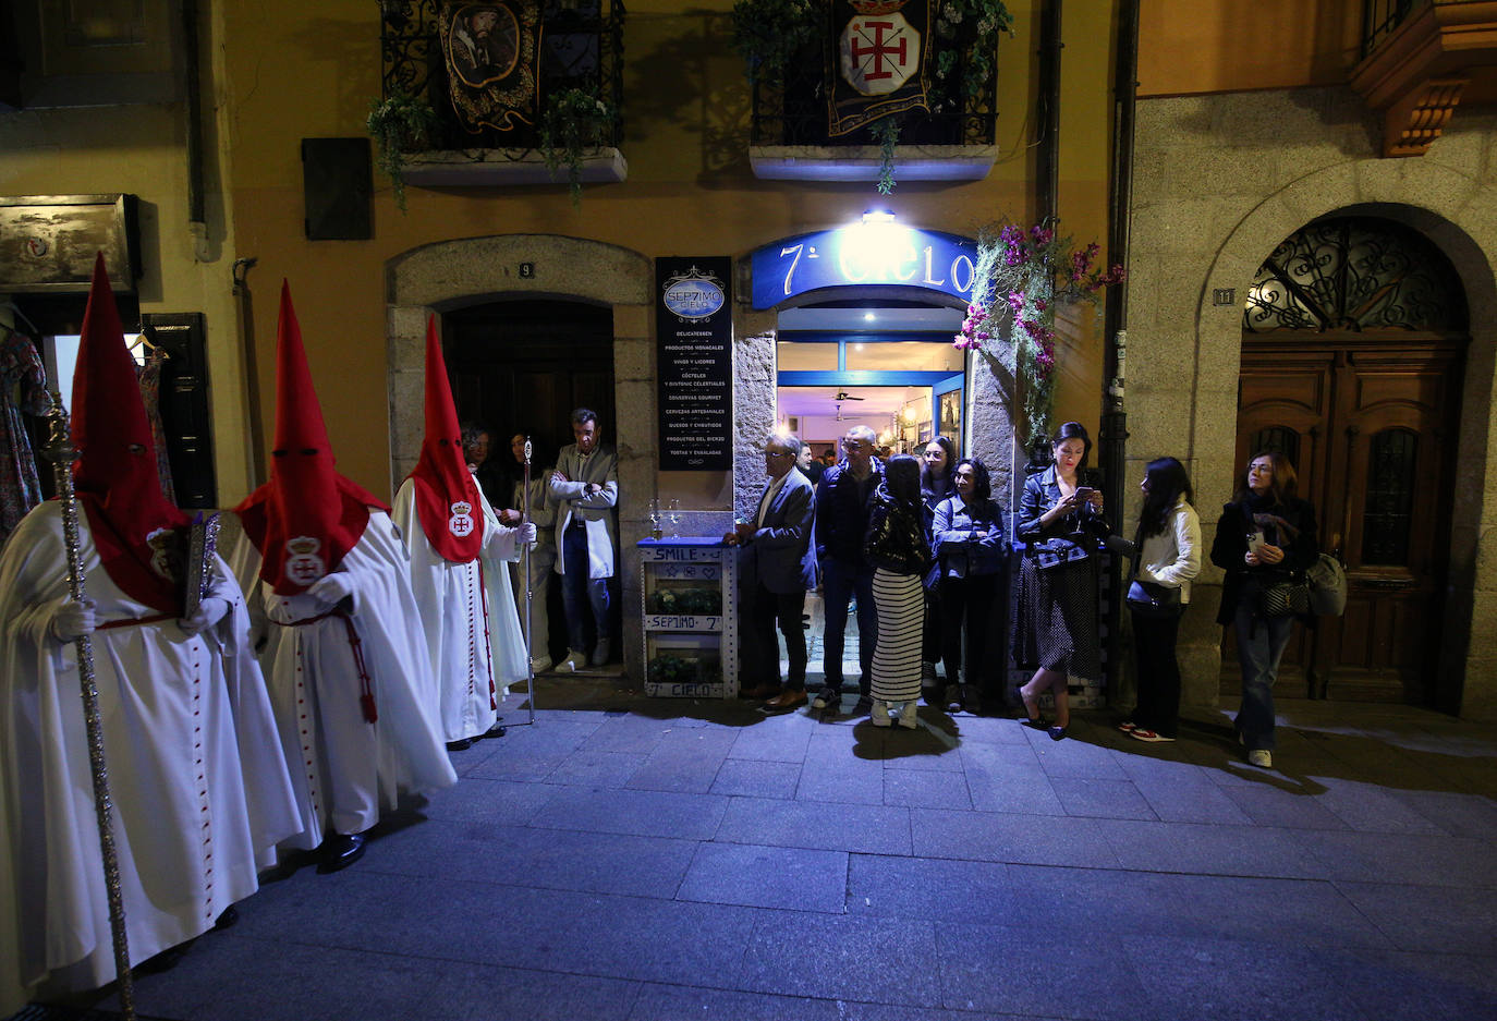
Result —
[{"label": "stone door surround with number 9 around the dark doorway", "polygon": [[386,377],[391,491],[421,455],[427,317],[504,299],[552,298],[606,305],[614,320],[614,404],[630,409],[608,422],[618,448],[618,558],[624,666],[639,662],[638,560],[627,555],[648,531],[654,497],[656,388],[650,326],[654,268],[638,252],[597,241],[516,234],[439,241],[404,252],[386,266]]}]

